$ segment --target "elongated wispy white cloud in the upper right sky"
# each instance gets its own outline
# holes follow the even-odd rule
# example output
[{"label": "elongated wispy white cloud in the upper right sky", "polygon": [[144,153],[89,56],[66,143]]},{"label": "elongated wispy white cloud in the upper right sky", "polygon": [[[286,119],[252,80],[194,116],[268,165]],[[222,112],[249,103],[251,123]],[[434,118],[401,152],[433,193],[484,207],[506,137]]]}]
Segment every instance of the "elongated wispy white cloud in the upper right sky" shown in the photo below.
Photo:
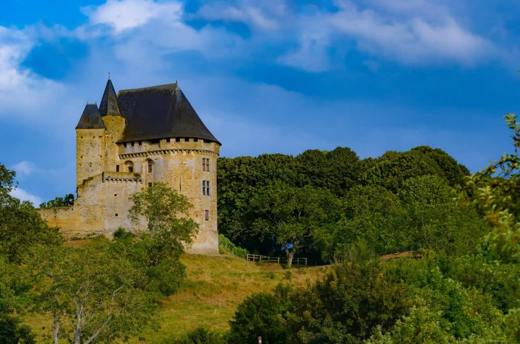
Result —
[{"label": "elongated wispy white cloud in the upper right sky", "polygon": [[361,50],[404,63],[448,60],[472,65],[495,54],[490,41],[462,28],[449,14],[436,20],[415,14],[402,18],[374,9],[360,10],[345,1],[328,19],[334,28],[356,39]]}]

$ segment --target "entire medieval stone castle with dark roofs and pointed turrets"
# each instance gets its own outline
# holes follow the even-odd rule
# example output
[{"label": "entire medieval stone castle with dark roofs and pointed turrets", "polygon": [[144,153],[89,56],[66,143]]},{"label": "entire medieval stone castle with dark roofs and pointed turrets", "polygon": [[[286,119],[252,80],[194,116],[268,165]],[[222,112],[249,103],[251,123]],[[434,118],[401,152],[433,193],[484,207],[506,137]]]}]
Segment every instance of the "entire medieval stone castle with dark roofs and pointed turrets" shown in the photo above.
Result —
[{"label": "entire medieval stone castle with dark roofs and pointed turrets", "polygon": [[129,220],[128,196],[161,181],[193,204],[199,234],[188,251],[217,254],[219,149],[177,83],[116,95],[109,79],[99,108],[87,104],[76,126],[74,205],[40,213],[66,237],[112,236],[119,227],[146,231],[144,218]]}]

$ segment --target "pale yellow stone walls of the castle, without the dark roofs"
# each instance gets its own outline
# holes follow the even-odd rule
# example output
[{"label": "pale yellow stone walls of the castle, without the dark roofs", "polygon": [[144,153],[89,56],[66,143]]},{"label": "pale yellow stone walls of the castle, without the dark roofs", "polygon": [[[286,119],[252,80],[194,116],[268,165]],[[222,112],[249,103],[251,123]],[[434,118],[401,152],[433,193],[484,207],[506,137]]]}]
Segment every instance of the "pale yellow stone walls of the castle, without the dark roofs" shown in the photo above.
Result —
[{"label": "pale yellow stone walls of the castle, without the dark roofs", "polygon": [[[90,135],[87,136],[80,130],[90,130]],[[128,197],[148,187],[149,183],[162,181],[187,196],[193,204],[190,216],[199,224],[199,234],[188,252],[218,254],[216,160],[219,145],[193,138],[115,144],[112,143],[115,133],[111,133],[112,136],[99,137],[97,132],[94,133],[97,130],[104,129],[77,130],[78,197],[73,206],[40,209],[42,217],[47,219],[49,225],[60,227],[66,237],[92,234],[111,237],[119,227],[131,231],[146,231],[145,219],[140,219],[137,223],[129,220],[128,210],[133,204]],[[88,142],[87,137],[92,137],[93,142]],[[116,149],[116,157],[108,159],[99,156],[98,151],[102,149],[105,139],[107,145],[112,145],[105,152],[112,155]],[[99,165],[103,167],[99,173],[94,173],[98,171],[97,167],[91,168],[96,164],[96,155]],[[203,170],[202,158],[209,159],[209,171]],[[151,171],[148,170],[149,161]],[[123,170],[129,164],[133,166],[132,173],[127,169]],[[115,165],[121,166],[119,172],[114,171]],[[91,169],[93,173],[86,177]],[[210,195],[202,195],[203,180],[210,182]],[[206,210],[209,211],[208,220],[205,219]]]}]

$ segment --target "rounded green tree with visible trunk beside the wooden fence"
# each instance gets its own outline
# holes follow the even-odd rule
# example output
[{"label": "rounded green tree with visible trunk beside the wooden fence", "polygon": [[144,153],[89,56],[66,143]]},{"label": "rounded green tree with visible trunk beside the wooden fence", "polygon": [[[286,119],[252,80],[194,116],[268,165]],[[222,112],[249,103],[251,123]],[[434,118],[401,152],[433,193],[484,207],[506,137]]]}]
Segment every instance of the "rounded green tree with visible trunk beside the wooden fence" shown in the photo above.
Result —
[{"label": "rounded green tree with visible trunk beside the wooden fence", "polygon": [[275,182],[259,190],[251,200],[257,214],[254,228],[281,245],[290,268],[294,254],[311,244],[313,230],[330,221],[336,203],[336,197],[326,189],[295,188]]}]

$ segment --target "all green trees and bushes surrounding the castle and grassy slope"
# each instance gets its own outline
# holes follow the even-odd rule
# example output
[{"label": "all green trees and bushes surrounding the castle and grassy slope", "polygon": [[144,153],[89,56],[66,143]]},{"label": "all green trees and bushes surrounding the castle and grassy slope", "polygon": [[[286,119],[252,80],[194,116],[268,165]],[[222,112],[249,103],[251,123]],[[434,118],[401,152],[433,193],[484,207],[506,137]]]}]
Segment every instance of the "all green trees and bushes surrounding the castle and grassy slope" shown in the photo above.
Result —
[{"label": "all green trees and bushes surrounding the castle and grassy slope", "polygon": [[[425,146],[364,160],[341,147],[220,158],[220,234],[286,256],[288,268],[293,257],[330,265],[317,281],[249,296],[225,333],[198,328],[164,342],[517,342],[520,124],[506,121],[514,153],[473,175]],[[190,208],[184,196],[155,183],[131,197],[149,232],[77,247],[10,196],[14,186],[0,165],[0,342],[35,342],[27,313],[48,318],[55,343],[159,328],[161,300],[185,281],[183,243],[197,232],[178,216]],[[381,259],[393,253],[406,254]]]}]

